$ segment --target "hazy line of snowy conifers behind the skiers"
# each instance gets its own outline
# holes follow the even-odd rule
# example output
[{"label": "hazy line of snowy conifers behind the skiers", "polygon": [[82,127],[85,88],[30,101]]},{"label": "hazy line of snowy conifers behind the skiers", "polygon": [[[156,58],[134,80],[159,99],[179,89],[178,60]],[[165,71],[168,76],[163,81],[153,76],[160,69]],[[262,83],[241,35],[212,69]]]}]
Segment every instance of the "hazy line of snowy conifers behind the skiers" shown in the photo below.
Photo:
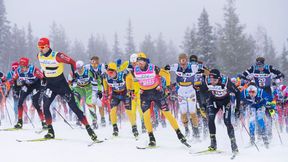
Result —
[{"label": "hazy line of snowy conifers behind the skiers", "polygon": [[[87,45],[81,40],[71,41],[61,24],[53,22],[50,26],[49,38],[56,51],[62,51],[75,60],[89,60],[97,55],[103,62],[114,59],[127,60],[130,54],[142,51],[150,60],[159,66],[174,63],[179,53],[195,54],[208,67],[219,68],[229,76],[236,75],[255,62],[257,56],[264,56],[266,62],[279,68],[288,75],[288,39],[283,50],[276,51],[272,38],[263,27],[254,34],[246,33],[245,25],[241,24],[235,0],[227,0],[223,8],[224,23],[211,25],[209,14],[203,9],[196,23],[191,23],[183,32],[180,45],[165,39],[162,33],[157,36],[146,34],[139,45],[135,44],[132,21],[127,25],[126,37],[120,42],[118,33],[110,45],[103,34],[91,34]],[[0,0],[0,67],[7,72],[10,64],[20,57],[28,57],[36,61],[37,40],[33,35],[29,22],[26,28],[18,27],[7,20],[4,0]],[[124,49],[121,48],[123,44]]]}]

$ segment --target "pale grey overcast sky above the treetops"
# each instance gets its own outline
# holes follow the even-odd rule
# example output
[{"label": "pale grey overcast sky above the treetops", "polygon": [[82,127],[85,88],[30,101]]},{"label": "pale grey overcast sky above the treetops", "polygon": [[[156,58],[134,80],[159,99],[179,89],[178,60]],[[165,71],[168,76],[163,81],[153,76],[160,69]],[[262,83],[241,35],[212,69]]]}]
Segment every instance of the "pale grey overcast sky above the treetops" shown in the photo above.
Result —
[{"label": "pale grey overcast sky above the treetops", "polygon": [[[34,35],[48,36],[52,22],[61,24],[70,40],[87,42],[91,33],[101,33],[112,45],[118,32],[123,44],[129,18],[137,47],[144,35],[162,32],[179,45],[187,26],[197,24],[205,7],[212,25],[223,24],[226,0],[5,0],[8,19],[19,27],[31,22]],[[237,13],[246,31],[266,28],[277,51],[288,38],[288,0],[237,0]]]}]

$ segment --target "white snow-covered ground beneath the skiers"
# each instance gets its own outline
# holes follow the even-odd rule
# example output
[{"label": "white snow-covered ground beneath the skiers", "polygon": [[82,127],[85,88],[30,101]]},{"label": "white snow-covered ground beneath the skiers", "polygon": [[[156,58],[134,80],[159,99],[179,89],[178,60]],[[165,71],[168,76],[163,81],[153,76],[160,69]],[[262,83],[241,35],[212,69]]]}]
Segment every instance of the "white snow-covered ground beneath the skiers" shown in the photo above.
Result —
[{"label": "white snow-covered ground beneath the skiers", "polygon": [[[12,113],[12,112],[11,112]],[[4,123],[3,123],[4,122]],[[223,154],[193,155],[190,151],[197,152],[206,149],[209,139],[200,143],[191,143],[188,150],[182,145],[175,132],[167,125],[167,128],[159,128],[155,131],[156,149],[138,150],[136,145],[144,145],[148,142],[147,134],[141,134],[140,139],[135,141],[132,136],[129,123],[122,122],[120,137],[111,138],[112,127],[100,127],[96,133],[100,139],[108,138],[104,143],[87,145],[91,142],[85,129],[71,129],[62,120],[54,123],[56,138],[64,140],[51,140],[44,142],[17,142],[16,139],[34,139],[43,137],[35,133],[41,128],[39,122],[34,122],[37,128],[31,124],[25,124],[24,130],[0,131],[0,162],[226,162],[231,161],[230,142],[226,133],[226,127],[217,125],[218,148],[225,151]],[[140,125],[139,125],[140,126]],[[140,127],[138,128],[140,129]],[[8,120],[2,121],[1,129],[11,127]],[[181,127],[183,130],[183,127]],[[288,162],[288,134],[281,133],[284,144],[281,145],[274,130],[274,138],[269,149],[258,143],[260,152],[255,147],[248,146],[248,136],[243,129],[237,129],[235,134],[239,146],[239,156],[234,161],[261,161],[261,162]]]}]

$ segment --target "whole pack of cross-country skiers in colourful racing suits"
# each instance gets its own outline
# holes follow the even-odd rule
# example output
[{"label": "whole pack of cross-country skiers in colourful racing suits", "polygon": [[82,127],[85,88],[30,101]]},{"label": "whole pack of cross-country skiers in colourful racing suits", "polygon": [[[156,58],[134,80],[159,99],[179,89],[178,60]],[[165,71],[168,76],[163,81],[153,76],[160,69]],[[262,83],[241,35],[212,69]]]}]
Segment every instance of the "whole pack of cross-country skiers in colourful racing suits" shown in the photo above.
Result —
[{"label": "whole pack of cross-country skiers in colourful racing suits", "polygon": [[[131,54],[128,61],[119,59],[108,64],[100,63],[100,58],[93,56],[85,64],[83,60],[75,61],[63,52],[52,50],[48,38],[39,39],[37,45],[39,68],[23,57],[12,63],[7,75],[0,72],[1,119],[7,109],[6,98],[11,94],[17,119],[14,129],[23,128],[23,116],[26,116],[23,112],[27,113],[25,102],[31,98],[42,129],[47,130],[45,139],[56,136],[51,115],[55,102],[65,105],[66,113],[67,104],[93,141],[98,140],[93,130],[99,128],[97,111],[100,125],[111,123],[112,135],[118,136],[119,110],[127,114],[135,138],[139,136],[136,119],[139,113],[142,132],[147,131],[149,137],[149,147],[156,146],[155,122],[161,121],[166,126],[167,120],[179,141],[188,147],[186,138],[190,134],[199,140],[201,133],[208,135],[209,130],[208,150],[215,151],[215,118],[219,118],[220,112],[233,153],[238,153],[238,147],[234,132],[237,124],[232,118],[242,124],[249,121],[251,144],[258,137],[268,147],[275,122],[281,130],[286,127],[288,133],[288,89],[282,84],[284,75],[266,64],[263,57],[257,57],[254,65],[230,78],[218,69],[208,69],[196,55],[189,58],[185,53],[179,55],[177,62],[164,67],[155,65],[148,58],[149,54],[143,52]],[[64,76],[65,64],[71,66],[68,78]],[[175,80],[170,73],[175,74]],[[85,111],[90,114],[92,127]],[[180,114],[184,134],[176,111]]]}]

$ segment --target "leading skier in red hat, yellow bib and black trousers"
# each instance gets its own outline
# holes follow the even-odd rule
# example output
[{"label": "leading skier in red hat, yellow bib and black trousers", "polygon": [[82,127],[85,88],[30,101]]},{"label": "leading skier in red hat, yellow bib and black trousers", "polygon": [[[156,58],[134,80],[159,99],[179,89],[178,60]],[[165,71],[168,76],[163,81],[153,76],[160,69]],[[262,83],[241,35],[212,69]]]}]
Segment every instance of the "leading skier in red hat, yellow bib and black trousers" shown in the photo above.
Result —
[{"label": "leading skier in red hat, yellow bib and black trousers", "polygon": [[55,138],[54,129],[52,126],[52,117],[50,113],[50,105],[57,95],[60,95],[68,103],[72,111],[77,115],[78,119],[85,125],[86,130],[93,141],[97,141],[97,136],[93,129],[88,124],[87,118],[83,112],[78,108],[73,92],[64,77],[64,64],[70,64],[74,73],[76,69],[75,61],[62,52],[53,51],[50,48],[50,41],[48,38],[41,38],[38,41],[38,60],[43,70],[45,79],[47,81],[46,90],[43,95],[43,107],[46,122],[48,124],[48,133],[45,138]]}]

